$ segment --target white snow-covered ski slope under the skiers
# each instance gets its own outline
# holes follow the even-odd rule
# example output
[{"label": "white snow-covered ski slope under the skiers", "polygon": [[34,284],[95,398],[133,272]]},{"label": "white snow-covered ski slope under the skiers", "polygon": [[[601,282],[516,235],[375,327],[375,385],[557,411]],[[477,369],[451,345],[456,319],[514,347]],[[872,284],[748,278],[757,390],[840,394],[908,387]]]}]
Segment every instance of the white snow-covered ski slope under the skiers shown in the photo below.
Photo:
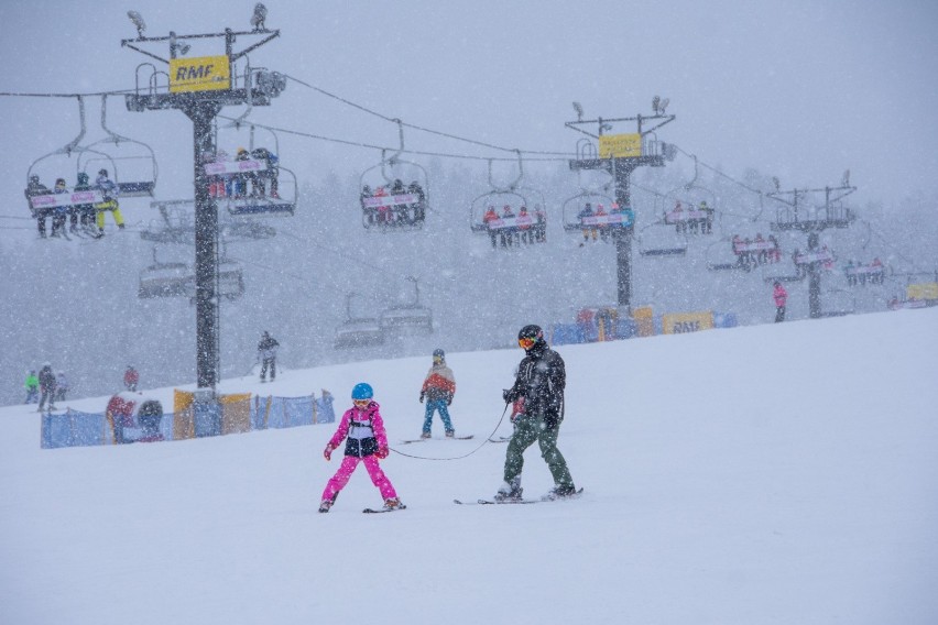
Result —
[{"label": "white snow-covered ski slope under the skiers", "polygon": [[[363,468],[317,514],[332,425],[41,450],[35,406],[2,408],[0,623],[938,623],[936,321],[560,347],[586,491],[528,506],[452,504],[501,482],[505,446],[479,446],[520,350],[448,354],[468,441],[396,443],[419,434],[428,357],[223,382],[329,388],[338,413],[368,381],[396,450],[462,457],[392,453],[408,507],[385,515],[361,514],[381,503]],[[552,485],[536,446],[523,485]]]}]

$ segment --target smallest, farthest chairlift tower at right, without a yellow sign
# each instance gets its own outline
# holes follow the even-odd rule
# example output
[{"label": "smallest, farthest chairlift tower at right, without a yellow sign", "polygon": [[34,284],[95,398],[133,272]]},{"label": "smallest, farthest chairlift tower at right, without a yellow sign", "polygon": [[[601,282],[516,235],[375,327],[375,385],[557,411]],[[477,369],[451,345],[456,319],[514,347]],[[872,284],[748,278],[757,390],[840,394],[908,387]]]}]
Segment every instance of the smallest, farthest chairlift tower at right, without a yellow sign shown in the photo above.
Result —
[{"label": "smallest, farthest chairlift tower at right, without a yellow sign", "polygon": [[[807,254],[805,262],[808,274],[808,315],[811,319],[824,317],[821,310],[820,267],[829,262],[818,246],[818,233],[828,228],[849,228],[857,216],[846,208],[841,200],[857,190],[850,185],[850,171],[843,174],[843,180],[839,187],[824,187],[818,189],[792,189],[783,191],[775,179],[775,191],[766,194],[766,197],[775,199],[785,205],[776,211],[775,220],[770,228],[773,231],[805,232],[808,235]],[[801,201],[812,194],[824,194],[824,205],[820,207],[805,206]],[[796,264],[798,260],[795,260]]]}]

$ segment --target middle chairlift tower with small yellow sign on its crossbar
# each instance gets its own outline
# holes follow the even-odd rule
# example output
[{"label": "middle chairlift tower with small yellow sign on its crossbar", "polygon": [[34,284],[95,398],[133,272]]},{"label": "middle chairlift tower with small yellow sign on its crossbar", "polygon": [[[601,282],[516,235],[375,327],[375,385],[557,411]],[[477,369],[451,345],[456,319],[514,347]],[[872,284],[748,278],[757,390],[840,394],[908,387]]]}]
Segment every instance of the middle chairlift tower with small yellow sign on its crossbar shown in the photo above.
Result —
[{"label": "middle chairlift tower with small yellow sign on its crossbar", "polygon": [[[620,207],[632,206],[632,194],[630,190],[630,178],[632,172],[637,167],[651,166],[663,167],[665,160],[674,158],[674,150],[656,140],[646,140],[648,134],[670,123],[675,116],[666,114],[667,100],[663,103],[658,97],[653,100],[654,114],[637,114],[631,118],[598,118],[593,120],[582,119],[582,108],[574,102],[577,111],[577,121],[566,122],[564,125],[576,130],[599,143],[597,151],[593,144],[583,140],[578,144],[577,158],[571,160],[570,169],[575,172],[588,169],[602,169],[612,177],[615,188],[615,202]],[[634,122],[635,132],[623,134],[608,134],[613,124]],[[592,132],[591,129],[596,129]],[[612,230],[612,239],[615,242],[617,285],[618,301],[620,307],[629,307],[632,304],[632,238],[634,223]]]}]

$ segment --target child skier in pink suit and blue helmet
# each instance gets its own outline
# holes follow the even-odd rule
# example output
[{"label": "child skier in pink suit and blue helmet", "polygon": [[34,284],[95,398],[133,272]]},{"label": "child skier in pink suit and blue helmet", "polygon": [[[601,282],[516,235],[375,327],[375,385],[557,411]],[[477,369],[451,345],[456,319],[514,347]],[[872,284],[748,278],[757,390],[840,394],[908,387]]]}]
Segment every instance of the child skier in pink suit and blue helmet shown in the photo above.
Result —
[{"label": "child skier in pink suit and blue helmet", "polygon": [[326,483],[319,512],[329,512],[329,508],[336,503],[339,492],[348,484],[359,462],[364,464],[368,475],[371,478],[371,483],[378,486],[381,492],[381,496],[384,498],[384,509],[404,509],[406,506],[401,503],[391,480],[388,479],[378,462],[379,459],[388,458],[389,450],[384,420],[381,418],[380,407],[374,401],[374,391],[370,384],[360,382],[352,388],[351,397],[352,407],[342,415],[339,428],[323,451],[323,456],[329,461],[332,451],[339,447],[342,440],[347,439],[345,458],[339,470]]}]

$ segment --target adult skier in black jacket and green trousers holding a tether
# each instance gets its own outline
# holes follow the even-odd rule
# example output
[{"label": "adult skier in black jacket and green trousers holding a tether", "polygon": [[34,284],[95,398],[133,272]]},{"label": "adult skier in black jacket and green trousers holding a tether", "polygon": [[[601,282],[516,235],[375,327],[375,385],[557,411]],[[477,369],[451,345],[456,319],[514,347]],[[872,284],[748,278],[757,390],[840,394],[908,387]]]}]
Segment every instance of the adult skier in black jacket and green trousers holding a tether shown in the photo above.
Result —
[{"label": "adult skier in black jacket and green trousers holding a tether", "polygon": [[514,434],[505,452],[504,482],[495,501],[520,501],[524,450],[537,441],[541,457],[554,478],[554,489],[545,500],[569,497],[577,492],[567,461],[557,449],[557,436],[564,420],[564,388],[567,373],[560,354],[547,347],[539,326],[525,326],[517,335],[525,357],[517,366],[514,385],[504,391],[505,404],[523,399],[523,413],[514,418]]}]

